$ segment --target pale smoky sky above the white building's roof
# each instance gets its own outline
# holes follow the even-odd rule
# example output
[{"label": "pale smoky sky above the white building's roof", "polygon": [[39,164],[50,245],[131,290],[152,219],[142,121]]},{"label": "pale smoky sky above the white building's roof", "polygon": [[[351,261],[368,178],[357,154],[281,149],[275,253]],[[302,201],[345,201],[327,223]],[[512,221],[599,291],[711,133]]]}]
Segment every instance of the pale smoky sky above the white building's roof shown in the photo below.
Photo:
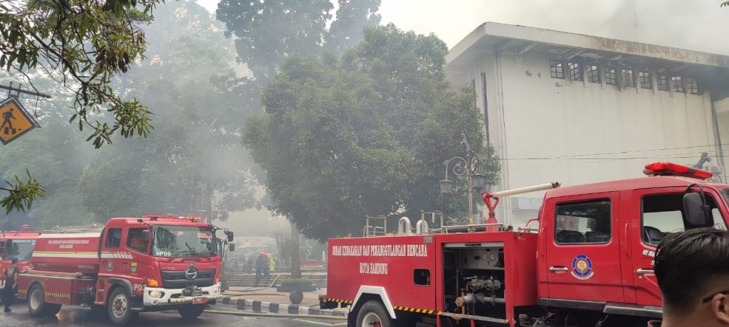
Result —
[{"label": "pale smoky sky above the white building's roof", "polygon": [[[305,1],[305,0],[302,0]],[[198,0],[211,12],[218,0]],[[485,22],[526,25],[729,55],[720,0],[382,0],[383,23],[453,47]]]}]

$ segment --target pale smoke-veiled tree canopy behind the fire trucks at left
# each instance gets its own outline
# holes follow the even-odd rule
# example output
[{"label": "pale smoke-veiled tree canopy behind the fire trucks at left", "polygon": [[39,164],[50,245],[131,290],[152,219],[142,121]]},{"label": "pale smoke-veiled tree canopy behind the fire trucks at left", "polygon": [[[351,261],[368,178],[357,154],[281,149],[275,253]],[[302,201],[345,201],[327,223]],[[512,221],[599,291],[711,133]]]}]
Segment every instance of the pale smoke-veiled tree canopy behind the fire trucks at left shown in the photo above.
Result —
[{"label": "pale smoke-veiled tree canopy behind the fire trucks at left", "polygon": [[222,77],[241,74],[233,42],[223,36],[222,23],[194,1],[173,1],[155,13],[155,21],[143,27],[147,60],[110,83],[120,96],[136,95],[154,109],[160,122],[155,133],[93,149],[67,125],[73,111],[63,109],[75,93],[53,89],[51,79],[36,80],[53,96],[39,106],[42,128],[3,147],[0,174],[36,171],[47,197],[25,213],[12,213],[3,229],[142,213],[219,211],[225,218],[225,212],[255,205],[253,164],[240,143],[246,107],[236,104]]}]

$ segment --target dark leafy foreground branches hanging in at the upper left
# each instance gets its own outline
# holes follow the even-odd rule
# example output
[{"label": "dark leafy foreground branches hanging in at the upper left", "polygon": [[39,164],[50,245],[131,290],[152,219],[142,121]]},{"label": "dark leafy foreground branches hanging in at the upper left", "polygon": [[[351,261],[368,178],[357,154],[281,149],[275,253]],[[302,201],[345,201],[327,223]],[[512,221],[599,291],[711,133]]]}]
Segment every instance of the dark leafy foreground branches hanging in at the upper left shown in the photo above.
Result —
[{"label": "dark leafy foreground branches hanging in at the upper left", "polygon": [[[0,3],[0,66],[33,84],[53,76],[75,94],[72,107],[79,130],[93,131],[87,141],[96,148],[125,138],[147,135],[151,112],[136,99],[123,99],[111,87],[115,74],[128,71],[146,47],[139,23],[152,19],[163,0],[8,0]],[[110,115],[110,117],[106,116]],[[0,188],[7,209],[29,208],[44,188],[30,177]]]}]

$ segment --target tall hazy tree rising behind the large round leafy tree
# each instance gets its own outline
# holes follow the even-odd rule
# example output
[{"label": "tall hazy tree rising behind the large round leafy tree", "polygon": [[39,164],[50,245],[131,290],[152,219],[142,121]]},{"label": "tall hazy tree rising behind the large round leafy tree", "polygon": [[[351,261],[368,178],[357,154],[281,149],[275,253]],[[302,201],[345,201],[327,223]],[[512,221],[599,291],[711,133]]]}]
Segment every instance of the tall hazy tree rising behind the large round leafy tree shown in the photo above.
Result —
[{"label": "tall hazy tree rising behind the large round leafy tree", "polygon": [[[262,87],[276,76],[287,56],[319,55],[325,50],[339,54],[359,42],[364,26],[380,23],[379,7],[380,0],[339,0],[334,19],[330,0],[221,0],[217,18],[225,23],[226,36],[235,39],[238,62],[252,75],[227,79],[229,90],[239,95],[239,103],[245,103],[248,112],[260,111]],[[298,244],[293,225],[292,239]],[[291,253],[292,277],[301,277],[299,251]]]}]

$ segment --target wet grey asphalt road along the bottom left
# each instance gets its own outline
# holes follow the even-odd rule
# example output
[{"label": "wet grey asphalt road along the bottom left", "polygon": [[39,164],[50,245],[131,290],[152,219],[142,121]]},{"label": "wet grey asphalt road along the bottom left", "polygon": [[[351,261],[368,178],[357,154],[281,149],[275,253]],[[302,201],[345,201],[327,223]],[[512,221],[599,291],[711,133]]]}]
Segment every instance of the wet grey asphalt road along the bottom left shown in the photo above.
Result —
[{"label": "wet grey asphalt road along the bottom left", "polygon": [[[215,306],[216,310],[225,310],[222,305]],[[230,312],[236,312],[232,308]],[[52,318],[33,318],[28,313],[25,302],[12,306],[12,312],[0,313],[0,326],[111,326],[111,324],[96,315],[91,310],[82,307],[63,307],[63,310]],[[251,327],[316,327],[316,326],[346,326],[344,320],[316,318],[276,318],[268,315],[225,315],[205,312],[197,319],[184,320],[176,311],[170,312],[143,312],[130,326],[251,326]]]}]

